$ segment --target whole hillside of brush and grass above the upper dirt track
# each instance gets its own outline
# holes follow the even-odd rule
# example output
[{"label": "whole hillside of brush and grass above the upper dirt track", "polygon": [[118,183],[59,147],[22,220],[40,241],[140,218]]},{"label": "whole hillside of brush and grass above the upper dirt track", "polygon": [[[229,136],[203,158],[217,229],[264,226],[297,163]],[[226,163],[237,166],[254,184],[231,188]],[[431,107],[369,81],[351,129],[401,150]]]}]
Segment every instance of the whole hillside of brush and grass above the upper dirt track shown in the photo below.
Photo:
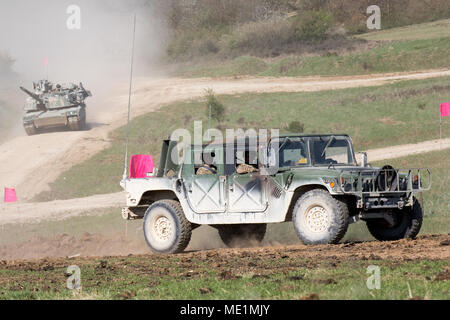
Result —
[{"label": "whole hillside of brush and grass above the upper dirt track", "polygon": [[[184,77],[352,75],[448,68],[445,0],[169,1],[166,62]],[[444,20],[439,20],[444,19]]]}]

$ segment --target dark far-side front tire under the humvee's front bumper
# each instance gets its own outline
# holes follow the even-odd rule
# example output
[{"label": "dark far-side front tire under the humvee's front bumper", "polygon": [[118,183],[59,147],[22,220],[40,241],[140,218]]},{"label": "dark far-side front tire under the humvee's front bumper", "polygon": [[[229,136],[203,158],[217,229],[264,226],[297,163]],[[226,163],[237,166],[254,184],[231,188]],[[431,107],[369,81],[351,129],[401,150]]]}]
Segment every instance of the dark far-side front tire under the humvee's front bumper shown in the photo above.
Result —
[{"label": "dark far-side front tire under the humvee's front bumper", "polygon": [[393,214],[395,224],[393,226],[384,219],[367,221],[370,234],[379,241],[394,241],[400,239],[414,239],[420,232],[423,221],[423,208],[420,202],[414,198],[412,207],[396,210]]}]

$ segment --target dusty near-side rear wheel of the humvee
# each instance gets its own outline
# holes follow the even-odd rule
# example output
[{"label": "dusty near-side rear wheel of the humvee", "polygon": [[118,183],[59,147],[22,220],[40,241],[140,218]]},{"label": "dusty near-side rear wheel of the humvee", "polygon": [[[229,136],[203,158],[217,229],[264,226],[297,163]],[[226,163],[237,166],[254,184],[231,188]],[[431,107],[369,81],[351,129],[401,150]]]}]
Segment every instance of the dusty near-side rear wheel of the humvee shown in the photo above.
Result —
[{"label": "dusty near-side rear wheel of the humvee", "polygon": [[153,252],[180,253],[191,240],[192,226],[178,201],[161,200],[152,204],[144,217],[144,236]]}]

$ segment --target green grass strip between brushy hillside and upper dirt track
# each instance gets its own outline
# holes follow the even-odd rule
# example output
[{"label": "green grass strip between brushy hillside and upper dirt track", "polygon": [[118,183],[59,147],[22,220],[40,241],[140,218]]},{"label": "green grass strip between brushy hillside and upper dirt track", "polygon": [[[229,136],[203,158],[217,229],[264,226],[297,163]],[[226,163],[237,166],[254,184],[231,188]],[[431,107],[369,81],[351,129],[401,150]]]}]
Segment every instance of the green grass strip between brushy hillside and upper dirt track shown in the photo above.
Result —
[{"label": "green grass strip between brushy hillside and upper dirt track", "polygon": [[[387,32],[387,31],[386,31]],[[335,76],[405,72],[450,67],[450,37],[387,42],[363,52],[287,56],[262,59],[241,56],[233,60],[201,61],[177,69],[183,77]]]}]

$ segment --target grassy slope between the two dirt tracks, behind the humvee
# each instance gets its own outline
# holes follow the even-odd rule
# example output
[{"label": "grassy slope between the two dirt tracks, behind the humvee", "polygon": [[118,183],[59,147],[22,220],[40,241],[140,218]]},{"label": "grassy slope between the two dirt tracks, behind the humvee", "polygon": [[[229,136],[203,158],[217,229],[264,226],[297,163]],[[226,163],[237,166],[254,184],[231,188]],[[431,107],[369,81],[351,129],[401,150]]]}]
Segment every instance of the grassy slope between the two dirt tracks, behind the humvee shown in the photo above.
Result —
[{"label": "grassy slope between the two dirt tracks, behind the humvee", "polygon": [[[222,127],[283,128],[291,121],[307,133],[348,133],[357,150],[415,143],[439,137],[441,102],[449,99],[450,78],[398,82],[372,88],[313,93],[221,96],[228,109]],[[161,141],[177,128],[207,125],[201,100],[177,102],[131,123],[130,154],[159,157]],[[170,116],[168,116],[170,115]],[[445,120],[444,137],[450,136]],[[213,123],[216,126],[216,123]],[[125,128],[111,133],[111,147],[64,172],[36,201],[70,199],[120,191]]]}]

